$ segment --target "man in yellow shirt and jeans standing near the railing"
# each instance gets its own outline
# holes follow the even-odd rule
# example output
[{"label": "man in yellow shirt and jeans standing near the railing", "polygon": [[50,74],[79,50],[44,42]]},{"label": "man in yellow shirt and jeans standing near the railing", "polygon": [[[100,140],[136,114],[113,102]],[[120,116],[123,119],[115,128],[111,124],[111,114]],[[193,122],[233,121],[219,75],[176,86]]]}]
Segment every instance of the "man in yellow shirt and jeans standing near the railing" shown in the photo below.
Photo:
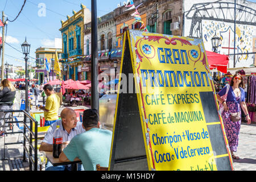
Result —
[{"label": "man in yellow shirt and jeans standing near the railing", "polygon": [[48,96],[46,106],[40,106],[39,108],[44,111],[44,126],[49,126],[59,119],[60,97],[55,94],[50,84],[44,85],[44,92]]}]

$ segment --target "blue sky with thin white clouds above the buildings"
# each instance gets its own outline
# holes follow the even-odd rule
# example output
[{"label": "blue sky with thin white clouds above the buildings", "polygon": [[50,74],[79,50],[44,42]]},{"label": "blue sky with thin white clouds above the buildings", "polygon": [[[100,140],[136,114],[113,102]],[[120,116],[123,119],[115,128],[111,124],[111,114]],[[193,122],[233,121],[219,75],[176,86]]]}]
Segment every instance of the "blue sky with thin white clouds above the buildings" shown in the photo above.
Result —
[{"label": "blue sky with thin white clouds above the buildings", "polygon": [[[127,0],[123,0],[127,1]],[[113,11],[117,8],[120,0],[98,0],[97,1],[97,16]],[[250,0],[256,2],[256,0]],[[9,20],[13,20],[18,15],[24,0],[0,0],[0,19],[2,19],[2,11],[8,16]],[[72,16],[72,10],[79,11],[82,3],[88,9],[91,9],[90,0],[27,0],[22,13],[14,22],[9,22],[7,25],[6,41],[22,52],[20,44],[27,37],[27,42],[31,44],[30,56],[35,57],[35,49],[39,47],[53,47],[55,38],[61,38],[59,28],[61,27],[60,20],[67,20],[67,15]],[[46,6],[46,15],[39,16],[40,7],[43,3]],[[0,30],[2,34],[2,28]],[[16,51],[9,45],[5,44],[5,63],[14,65],[25,65],[24,56],[19,51]],[[2,58],[1,58],[2,59]],[[35,60],[30,59],[34,64]],[[0,61],[1,63],[1,61]]]}]

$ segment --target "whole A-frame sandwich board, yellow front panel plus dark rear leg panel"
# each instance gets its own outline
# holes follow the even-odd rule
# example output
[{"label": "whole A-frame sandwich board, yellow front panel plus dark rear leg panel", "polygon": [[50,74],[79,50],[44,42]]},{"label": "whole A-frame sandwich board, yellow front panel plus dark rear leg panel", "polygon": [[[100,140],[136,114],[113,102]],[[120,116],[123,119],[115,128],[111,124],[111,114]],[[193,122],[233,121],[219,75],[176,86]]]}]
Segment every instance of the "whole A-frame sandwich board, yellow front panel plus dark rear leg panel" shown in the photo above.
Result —
[{"label": "whole A-frame sandwich board, yellow front panel plus dark rear leg panel", "polygon": [[203,40],[123,40],[109,169],[233,170]]}]

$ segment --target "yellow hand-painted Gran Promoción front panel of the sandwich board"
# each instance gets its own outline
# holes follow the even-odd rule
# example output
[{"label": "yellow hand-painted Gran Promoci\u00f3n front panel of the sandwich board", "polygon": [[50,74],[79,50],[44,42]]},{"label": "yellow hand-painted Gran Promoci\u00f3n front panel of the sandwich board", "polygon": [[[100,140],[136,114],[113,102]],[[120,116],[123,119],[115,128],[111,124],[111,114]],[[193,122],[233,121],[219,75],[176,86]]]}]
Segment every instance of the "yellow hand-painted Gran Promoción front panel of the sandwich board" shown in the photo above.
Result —
[{"label": "yellow hand-painted Gran Promoci\u00f3n front panel of the sandwich board", "polygon": [[148,169],[232,170],[203,41],[127,36]]}]

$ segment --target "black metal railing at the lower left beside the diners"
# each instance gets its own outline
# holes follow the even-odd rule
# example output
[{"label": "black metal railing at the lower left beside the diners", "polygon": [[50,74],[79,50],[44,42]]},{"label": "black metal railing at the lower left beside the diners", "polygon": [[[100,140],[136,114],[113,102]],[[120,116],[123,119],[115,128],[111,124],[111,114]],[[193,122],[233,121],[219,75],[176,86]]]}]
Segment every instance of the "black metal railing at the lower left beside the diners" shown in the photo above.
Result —
[{"label": "black metal railing at the lower left beside the diners", "polygon": [[[11,131],[11,132],[5,132],[5,136],[8,134],[22,134],[23,133],[23,142],[10,142],[6,143],[4,138],[4,152],[3,152],[3,160],[6,160],[5,158],[5,146],[11,145],[11,144],[23,144],[23,162],[26,162],[26,152],[28,153],[28,162],[29,162],[29,169],[32,171],[32,166],[34,167],[34,171],[38,170],[38,122],[31,117],[30,114],[26,112],[26,110],[0,110],[0,112],[3,113],[11,113],[9,118],[5,118],[5,115],[3,117],[3,127],[5,131],[5,124],[6,123],[23,123],[23,131]],[[23,113],[24,119],[23,121],[13,121],[14,116],[13,113]],[[20,117],[17,117],[20,118]],[[7,121],[7,119],[11,119],[11,121]],[[30,124],[28,126],[28,123]],[[34,129],[34,131],[33,131]],[[27,136],[28,133],[28,136]],[[34,146],[33,146],[33,140],[34,140]],[[26,145],[26,142],[28,142],[28,147]],[[34,153],[34,155],[33,155]],[[34,156],[34,158],[33,158]]]}]

